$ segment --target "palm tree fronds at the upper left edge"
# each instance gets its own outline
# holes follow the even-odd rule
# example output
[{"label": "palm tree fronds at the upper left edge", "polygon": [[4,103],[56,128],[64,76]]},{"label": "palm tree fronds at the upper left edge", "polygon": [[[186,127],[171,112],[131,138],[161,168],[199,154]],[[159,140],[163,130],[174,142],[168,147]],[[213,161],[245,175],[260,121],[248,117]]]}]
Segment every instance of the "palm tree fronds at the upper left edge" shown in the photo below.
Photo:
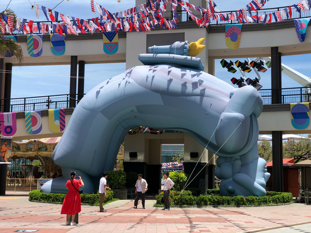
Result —
[{"label": "palm tree fronds at the upper left edge", "polygon": [[[3,13],[2,11],[1,13]],[[7,15],[14,16],[14,23],[16,22],[16,14],[11,9],[6,10]],[[0,14],[1,14],[0,13]],[[21,45],[15,42],[13,39],[2,39],[2,31],[0,30],[0,59],[4,59],[5,54],[10,50],[14,57],[17,59],[18,64],[20,65],[23,62],[23,49]]]}]

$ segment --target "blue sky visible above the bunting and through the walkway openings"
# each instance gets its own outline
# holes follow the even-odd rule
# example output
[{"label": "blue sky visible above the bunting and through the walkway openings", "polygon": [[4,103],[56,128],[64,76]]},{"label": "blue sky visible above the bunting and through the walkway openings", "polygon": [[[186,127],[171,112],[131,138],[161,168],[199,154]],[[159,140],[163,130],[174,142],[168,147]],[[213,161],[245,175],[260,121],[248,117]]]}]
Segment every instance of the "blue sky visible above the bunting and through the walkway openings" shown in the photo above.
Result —
[{"label": "blue sky visible above the bunting and through the walkway openings", "polygon": [[[0,11],[5,10],[10,0],[2,0],[0,3]],[[33,3],[30,0],[31,3]],[[45,21],[45,16],[41,14],[39,20],[35,17],[35,10],[31,10],[31,3],[28,0],[12,0],[9,8],[11,8],[17,16],[33,21]],[[60,0],[53,1],[38,1],[37,3],[48,8],[54,8]],[[120,3],[117,0],[103,1],[97,0],[100,5],[105,7],[110,12],[123,11],[135,6],[134,0],[121,0]],[[234,11],[241,9],[248,4],[248,1],[244,0],[215,0],[217,7],[220,11]],[[272,7],[285,7],[297,3],[297,0],[270,0],[267,2],[265,8]],[[90,0],[69,0],[61,2],[56,11],[64,13],[70,16],[78,18],[92,18],[97,17],[91,11]],[[309,29],[310,30],[310,29]],[[310,54],[284,56],[282,57],[282,63],[295,69],[296,71],[311,76],[311,71],[308,68],[310,61]],[[235,61],[235,59],[231,59]],[[239,59],[244,61],[244,59]],[[91,90],[97,84],[104,80],[118,75],[125,71],[125,63],[114,64],[88,64],[85,67],[85,93]],[[12,70],[12,94],[11,98],[31,97],[31,96],[44,96],[44,95],[56,95],[56,94],[68,94],[69,93],[69,76],[70,66],[22,66],[13,67]],[[215,76],[231,84],[230,79],[232,77],[240,77],[239,71],[235,74],[227,72],[220,66],[220,59],[215,61]],[[251,71],[246,75],[249,78],[255,78],[255,72]],[[261,74],[260,84],[264,89],[271,88],[271,72],[270,69],[264,74]],[[282,87],[300,87],[298,83],[288,78],[286,75],[282,75]]]}]

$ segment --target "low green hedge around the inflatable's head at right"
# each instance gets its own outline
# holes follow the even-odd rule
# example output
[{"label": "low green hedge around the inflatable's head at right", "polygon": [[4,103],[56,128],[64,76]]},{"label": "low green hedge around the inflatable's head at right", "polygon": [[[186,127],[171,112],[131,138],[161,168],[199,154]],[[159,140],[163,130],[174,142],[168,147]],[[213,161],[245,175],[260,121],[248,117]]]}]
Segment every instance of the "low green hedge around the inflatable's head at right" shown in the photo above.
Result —
[{"label": "low green hedge around the inflatable's head at right", "polygon": [[[209,191],[209,193],[216,193],[217,191]],[[219,191],[218,191],[219,192]],[[200,195],[192,196],[183,192],[182,196],[179,196],[180,192],[171,192],[169,195],[169,202],[171,205],[176,206],[222,206],[222,205],[267,205],[267,204],[281,204],[293,202],[293,194],[280,193],[280,192],[267,192],[267,196],[264,197],[225,197],[220,195]],[[171,195],[172,194],[172,195]],[[163,193],[156,195],[156,204],[161,204],[161,198]]]}]

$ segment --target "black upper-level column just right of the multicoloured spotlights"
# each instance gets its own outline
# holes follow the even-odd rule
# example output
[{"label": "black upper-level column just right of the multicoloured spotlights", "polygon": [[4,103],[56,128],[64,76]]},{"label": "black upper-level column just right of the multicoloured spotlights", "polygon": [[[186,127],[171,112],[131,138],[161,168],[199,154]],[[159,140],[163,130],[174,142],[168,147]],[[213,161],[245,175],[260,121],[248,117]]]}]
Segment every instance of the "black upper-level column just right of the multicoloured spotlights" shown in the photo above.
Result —
[{"label": "black upper-level column just right of the multicoloured spotlights", "polygon": [[271,47],[271,103],[281,103],[281,61],[279,47]]}]

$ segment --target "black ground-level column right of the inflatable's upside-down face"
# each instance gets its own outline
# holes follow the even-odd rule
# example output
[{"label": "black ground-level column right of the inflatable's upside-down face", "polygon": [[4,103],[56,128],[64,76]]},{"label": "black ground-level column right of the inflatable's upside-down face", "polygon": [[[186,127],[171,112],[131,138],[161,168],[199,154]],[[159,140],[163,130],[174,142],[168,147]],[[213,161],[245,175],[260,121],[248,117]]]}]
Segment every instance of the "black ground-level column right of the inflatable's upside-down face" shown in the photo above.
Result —
[{"label": "black ground-level column right of the inflatable's upside-down face", "polygon": [[283,192],[283,144],[282,131],[272,131],[272,180],[273,191]]}]

